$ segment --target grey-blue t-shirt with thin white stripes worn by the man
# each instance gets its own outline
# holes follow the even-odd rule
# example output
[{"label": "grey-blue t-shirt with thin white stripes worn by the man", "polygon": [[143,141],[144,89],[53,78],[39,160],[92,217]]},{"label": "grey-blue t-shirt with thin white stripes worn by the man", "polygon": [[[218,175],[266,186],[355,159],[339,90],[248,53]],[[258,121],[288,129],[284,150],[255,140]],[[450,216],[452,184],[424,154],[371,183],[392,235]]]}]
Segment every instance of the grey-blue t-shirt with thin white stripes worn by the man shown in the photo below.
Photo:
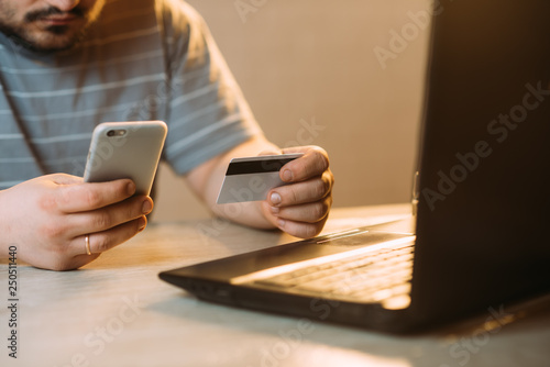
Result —
[{"label": "grey-blue t-shirt with thin white stripes worn by the man", "polygon": [[261,134],[202,19],[180,0],[107,0],[84,41],[43,55],[0,33],[0,189],[81,176],[100,122],[163,120],[183,175]]}]

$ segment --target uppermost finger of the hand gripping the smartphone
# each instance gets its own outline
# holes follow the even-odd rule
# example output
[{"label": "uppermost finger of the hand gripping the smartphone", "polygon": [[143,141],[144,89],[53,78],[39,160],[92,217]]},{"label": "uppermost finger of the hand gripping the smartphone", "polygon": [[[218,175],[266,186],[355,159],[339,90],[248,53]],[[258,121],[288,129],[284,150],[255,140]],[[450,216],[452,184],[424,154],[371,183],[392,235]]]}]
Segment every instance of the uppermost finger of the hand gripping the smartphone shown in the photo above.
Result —
[{"label": "uppermost finger of the hand gripping the smartphone", "polygon": [[85,185],[61,185],[50,201],[63,213],[89,211],[120,202],[135,193],[130,179]]}]

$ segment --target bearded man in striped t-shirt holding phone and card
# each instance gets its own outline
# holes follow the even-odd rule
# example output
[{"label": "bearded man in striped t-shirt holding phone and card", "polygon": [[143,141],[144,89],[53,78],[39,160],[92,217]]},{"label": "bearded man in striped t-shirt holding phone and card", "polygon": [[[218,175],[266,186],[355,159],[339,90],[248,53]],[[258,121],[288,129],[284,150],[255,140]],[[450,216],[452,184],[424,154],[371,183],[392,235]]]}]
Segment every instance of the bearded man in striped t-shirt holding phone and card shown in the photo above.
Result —
[{"label": "bearded man in striped t-shirt holding phone and card", "polygon": [[[163,120],[163,158],[218,214],[258,229],[318,234],[333,176],[320,147],[279,149],[257,127],[206,25],[180,0],[0,0],[0,257],[74,269],[146,226],[130,180],[85,184],[95,125]],[[302,152],[289,185],[227,210],[229,160]],[[57,174],[64,173],[64,174]],[[228,213],[239,212],[239,216]]]}]

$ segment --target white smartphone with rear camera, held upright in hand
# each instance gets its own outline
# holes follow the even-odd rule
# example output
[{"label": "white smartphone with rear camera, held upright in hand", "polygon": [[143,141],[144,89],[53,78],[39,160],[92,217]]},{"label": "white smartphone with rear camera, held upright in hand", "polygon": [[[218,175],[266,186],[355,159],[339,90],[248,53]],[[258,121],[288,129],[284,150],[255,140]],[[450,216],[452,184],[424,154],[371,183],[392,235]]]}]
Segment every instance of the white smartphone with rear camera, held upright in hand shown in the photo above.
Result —
[{"label": "white smartphone with rear camera, held upright in hand", "polygon": [[136,194],[150,194],[167,131],[163,121],[99,124],[91,137],[84,180],[130,178]]}]

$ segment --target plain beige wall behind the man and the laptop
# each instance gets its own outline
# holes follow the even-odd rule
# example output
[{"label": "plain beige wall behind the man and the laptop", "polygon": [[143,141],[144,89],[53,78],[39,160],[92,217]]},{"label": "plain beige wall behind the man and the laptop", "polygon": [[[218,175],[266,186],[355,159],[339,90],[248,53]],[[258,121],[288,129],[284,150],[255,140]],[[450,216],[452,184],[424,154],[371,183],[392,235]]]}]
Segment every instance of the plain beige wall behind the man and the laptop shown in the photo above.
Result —
[{"label": "plain beige wall behind the man and the laptop", "polygon": [[[429,33],[411,14],[429,0],[188,2],[207,20],[266,135],[329,152],[336,207],[410,199]],[[243,3],[250,12],[237,10]],[[408,40],[396,43],[394,31]],[[381,48],[393,52],[385,67]],[[207,215],[169,169],[160,178],[157,219]]]}]

